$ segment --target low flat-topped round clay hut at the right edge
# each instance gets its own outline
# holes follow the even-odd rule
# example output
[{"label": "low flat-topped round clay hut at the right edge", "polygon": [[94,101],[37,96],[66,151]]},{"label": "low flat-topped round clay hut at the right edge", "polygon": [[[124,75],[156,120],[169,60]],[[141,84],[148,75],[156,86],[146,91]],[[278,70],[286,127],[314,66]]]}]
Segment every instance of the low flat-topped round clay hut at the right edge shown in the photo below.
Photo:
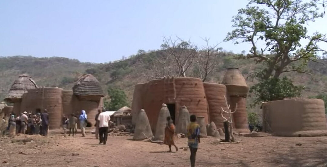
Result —
[{"label": "low flat-topped round clay hut at the right edge", "polygon": [[263,128],[276,136],[326,136],[321,99],[285,99],[263,104]]}]

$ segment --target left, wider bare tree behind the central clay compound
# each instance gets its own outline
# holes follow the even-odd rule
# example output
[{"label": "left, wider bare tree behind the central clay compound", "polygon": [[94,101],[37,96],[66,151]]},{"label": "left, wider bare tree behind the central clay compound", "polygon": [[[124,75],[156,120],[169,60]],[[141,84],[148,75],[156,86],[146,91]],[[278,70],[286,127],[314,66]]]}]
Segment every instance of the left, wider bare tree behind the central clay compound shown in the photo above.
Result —
[{"label": "left, wider bare tree behind the central clay compound", "polygon": [[189,40],[184,41],[177,37],[173,40],[171,37],[163,38],[161,45],[165,56],[172,57],[175,60],[176,70],[180,77],[186,77],[186,71],[192,66],[193,61],[198,53],[198,47],[192,44]]}]

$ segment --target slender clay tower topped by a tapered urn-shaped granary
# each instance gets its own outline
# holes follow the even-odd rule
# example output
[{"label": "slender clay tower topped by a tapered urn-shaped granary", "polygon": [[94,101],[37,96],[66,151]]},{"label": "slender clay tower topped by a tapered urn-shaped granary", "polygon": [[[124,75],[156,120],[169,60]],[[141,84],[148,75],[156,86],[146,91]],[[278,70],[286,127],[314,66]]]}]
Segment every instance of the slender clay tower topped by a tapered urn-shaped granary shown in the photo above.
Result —
[{"label": "slender clay tower topped by a tapered urn-shaped granary", "polygon": [[246,112],[246,97],[249,86],[238,68],[228,68],[223,78],[222,84],[226,85],[227,97],[234,111],[237,103],[237,111],[233,114],[233,122],[236,131],[250,132],[248,129],[248,114]]}]

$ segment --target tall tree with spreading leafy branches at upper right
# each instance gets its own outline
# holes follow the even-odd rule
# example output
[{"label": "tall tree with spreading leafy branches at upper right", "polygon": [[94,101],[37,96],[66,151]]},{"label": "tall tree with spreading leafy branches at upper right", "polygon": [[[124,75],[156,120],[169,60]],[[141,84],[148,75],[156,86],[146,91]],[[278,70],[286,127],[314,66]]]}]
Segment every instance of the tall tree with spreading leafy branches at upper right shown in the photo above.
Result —
[{"label": "tall tree with spreading leafy branches at upper right", "polygon": [[[308,61],[317,62],[319,53],[326,53],[318,45],[327,42],[326,35],[318,32],[308,35],[305,27],[324,16],[319,12],[319,4],[319,0],[250,0],[246,8],[239,9],[233,17],[236,28],[228,33],[225,41],[251,43],[250,53],[240,58],[263,62],[266,65],[264,80],[292,71],[309,74],[305,70]],[[303,40],[307,43],[302,47],[300,41]],[[264,47],[260,48],[260,42]]]}]

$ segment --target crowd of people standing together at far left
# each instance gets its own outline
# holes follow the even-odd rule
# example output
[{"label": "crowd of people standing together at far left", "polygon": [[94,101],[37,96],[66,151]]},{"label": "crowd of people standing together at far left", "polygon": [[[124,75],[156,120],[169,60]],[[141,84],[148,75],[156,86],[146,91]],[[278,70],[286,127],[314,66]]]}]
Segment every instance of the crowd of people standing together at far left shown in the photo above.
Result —
[{"label": "crowd of people standing together at far left", "polygon": [[35,114],[24,111],[20,115],[11,113],[9,116],[8,127],[9,135],[22,134],[40,134],[47,136],[49,126],[49,114],[45,109],[41,114],[41,110],[37,109]]}]

